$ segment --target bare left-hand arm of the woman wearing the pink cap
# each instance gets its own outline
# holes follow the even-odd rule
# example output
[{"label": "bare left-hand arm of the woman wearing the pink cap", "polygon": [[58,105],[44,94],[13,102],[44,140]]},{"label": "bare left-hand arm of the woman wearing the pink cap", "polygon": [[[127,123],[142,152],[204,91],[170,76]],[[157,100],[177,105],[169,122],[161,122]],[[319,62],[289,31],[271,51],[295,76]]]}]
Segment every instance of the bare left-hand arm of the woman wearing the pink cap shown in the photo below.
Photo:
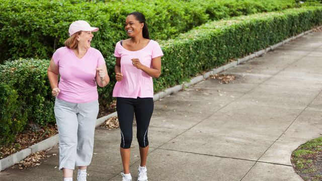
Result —
[{"label": "bare left-hand arm of the woman wearing the pink cap", "polygon": [[58,74],[59,74],[59,68],[54,63],[54,60],[51,59],[47,69],[47,75],[52,89],[51,94],[55,97],[57,97],[60,92],[60,89],[58,88]]}]

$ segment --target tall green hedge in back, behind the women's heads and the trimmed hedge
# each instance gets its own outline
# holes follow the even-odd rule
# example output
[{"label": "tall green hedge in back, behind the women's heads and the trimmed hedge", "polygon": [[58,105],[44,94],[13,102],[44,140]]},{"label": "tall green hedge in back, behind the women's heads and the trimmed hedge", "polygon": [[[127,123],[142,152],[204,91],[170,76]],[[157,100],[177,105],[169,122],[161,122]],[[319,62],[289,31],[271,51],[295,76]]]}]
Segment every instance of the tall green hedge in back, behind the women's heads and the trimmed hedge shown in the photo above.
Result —
[{"label": "tall green hedge in back, behind the women's heads and the trimmed hedge", "polygon": [[9,58],[49,59],[68,38],[72,21],[86,20],[99,27],[93,47],[104,56],[126,38],[123,24],[128,13],[142,12],[151,38],[167,40],[206,23],[230,16],[278,11],[295,7],[295,0],[122,0],[106,4],[63,0],[0,1],[0,63]]}]

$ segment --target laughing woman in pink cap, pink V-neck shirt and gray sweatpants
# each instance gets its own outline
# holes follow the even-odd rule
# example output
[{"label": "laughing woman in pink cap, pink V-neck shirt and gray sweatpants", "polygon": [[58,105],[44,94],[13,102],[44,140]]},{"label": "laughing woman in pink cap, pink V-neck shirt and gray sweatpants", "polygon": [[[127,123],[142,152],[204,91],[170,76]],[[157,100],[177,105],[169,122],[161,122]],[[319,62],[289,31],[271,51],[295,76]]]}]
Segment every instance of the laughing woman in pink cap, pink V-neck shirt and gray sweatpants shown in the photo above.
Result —
[{"label": "laughing woman in pink cap, pink V-neck shirt and gray sweatpants", "polygon": [[92,32],[98,30],[86,21],[73,22],[69,26],[70,37],[64,47],[55,51],[47,71],[52,95],[56,97],[59,169],[68,181],[72,180],[75,165],[77,180],[86,181],[99,112],[97,85],[104,87],[110,81],[102,53],[91,47]]}]

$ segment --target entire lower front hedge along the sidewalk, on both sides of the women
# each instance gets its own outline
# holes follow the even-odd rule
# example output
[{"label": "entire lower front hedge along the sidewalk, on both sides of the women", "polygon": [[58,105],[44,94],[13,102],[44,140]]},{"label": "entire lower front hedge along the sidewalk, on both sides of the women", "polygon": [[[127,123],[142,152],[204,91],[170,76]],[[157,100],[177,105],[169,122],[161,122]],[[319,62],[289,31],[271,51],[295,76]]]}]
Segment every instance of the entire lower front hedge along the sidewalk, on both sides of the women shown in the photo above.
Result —
[{"label": "entire lower front hedge along the sidewalk, on both sides of the women", "polygon": [[[159,41],[165,56],[162,75],[153,79],[154,92],[182,83],[191,76],[225,64],[228,60],[243,57],[321,24],[322,8],[293,9],[214,21],[175,39]],[[105,108],[112,101],[115,84],[115,58],[108,56],[105,60],[111,83],[104,88],[98,88],[101,108]],[[1,65],[0,82],[8,84],[13,91],[4,94],[12,95],[13,98],[7,102],[2,99],[0,105],[19,103],[15,109],[22,110],[29,121],[40,125],[54,122],[54,99],[46,72],[48,64],[49,60],[19,59]],[[18,94],[17,98],[15,93]],[[12,103],[9,103],[10,100]],[[4,124],[0,127],[6,127],[10,122],[7,118],[12,117],[12,112],[2,113],[9,114],[4,116],[7,121],[0,122]],[[26,122],[21,125],[25,124]]]}]

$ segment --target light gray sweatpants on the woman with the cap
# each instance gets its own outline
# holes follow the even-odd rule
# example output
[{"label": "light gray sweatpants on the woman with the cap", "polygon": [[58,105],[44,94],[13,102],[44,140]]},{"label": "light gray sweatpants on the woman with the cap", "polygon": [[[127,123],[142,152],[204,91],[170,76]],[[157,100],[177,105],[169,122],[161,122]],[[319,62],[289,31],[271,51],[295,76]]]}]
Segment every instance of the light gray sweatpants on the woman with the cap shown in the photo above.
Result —
[{"label": "light gray sweatpants on the woman with the cap", "polygon": [[98,101],[68,103],[56,98],[55,117],[59,137],[59,169],[91,163]]}]

